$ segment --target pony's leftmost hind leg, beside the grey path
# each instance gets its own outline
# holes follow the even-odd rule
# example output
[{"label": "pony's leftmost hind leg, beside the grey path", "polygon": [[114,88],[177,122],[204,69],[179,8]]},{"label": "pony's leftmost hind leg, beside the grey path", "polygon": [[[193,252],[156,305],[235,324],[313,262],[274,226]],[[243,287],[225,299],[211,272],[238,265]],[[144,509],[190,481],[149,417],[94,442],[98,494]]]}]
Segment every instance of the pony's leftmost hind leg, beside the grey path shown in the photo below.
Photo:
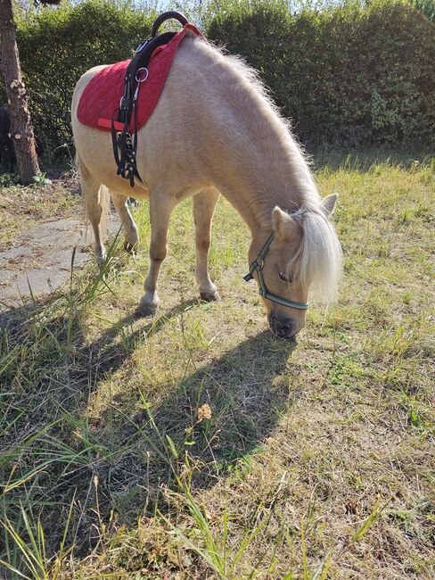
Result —
[{"label": "pony's leftmost hind leg, beside the grey path", "polygon": [[96,261],[101,264],[106,255],[102,229],[105,228],[104,221],[107,217],[111,199],[107,187],[103,186],[99,180],[92,176],[80,158],[78,158],[78,167],[82,195],[86,204],[86,216],[91,222],[94,232],[95,257]]}]

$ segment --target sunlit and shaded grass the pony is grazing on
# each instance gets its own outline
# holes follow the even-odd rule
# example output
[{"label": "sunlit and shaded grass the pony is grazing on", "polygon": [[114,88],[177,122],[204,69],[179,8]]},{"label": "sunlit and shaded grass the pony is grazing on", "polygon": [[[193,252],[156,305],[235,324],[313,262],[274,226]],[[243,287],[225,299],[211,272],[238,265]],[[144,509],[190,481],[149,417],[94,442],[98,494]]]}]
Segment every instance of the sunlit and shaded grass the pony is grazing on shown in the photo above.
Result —
[{"label": "sunlit and shaded grass the pony is grazing on", "polygon": [[434,162],[331,157],[316,178],[340,194],[345,275],[297,344],[242,282],[225,201],[222,302],[196,300],[185,203],[156,319],[135,315],[146,204],[135,260],[115,243],[104,272],[4,307],[4,577],[433,577]]}]

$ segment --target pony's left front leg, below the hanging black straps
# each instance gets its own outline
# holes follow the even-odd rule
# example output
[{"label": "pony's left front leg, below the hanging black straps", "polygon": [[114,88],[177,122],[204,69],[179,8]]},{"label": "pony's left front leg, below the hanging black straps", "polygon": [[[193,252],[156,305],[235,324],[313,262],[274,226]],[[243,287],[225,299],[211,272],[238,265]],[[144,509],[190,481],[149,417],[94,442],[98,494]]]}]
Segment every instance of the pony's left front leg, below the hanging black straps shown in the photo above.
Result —
[{"label": "pony's left front leg, below the hanging black straps", "polygon": [[157,278],[161,262],[168,253],[168,227],[171,211],[175,203],[164,194],[150,196],[151,244],[150,269],[144,282],[145,294],[141,298],[139,310],[144,316],[155,314],[159,307]]}]

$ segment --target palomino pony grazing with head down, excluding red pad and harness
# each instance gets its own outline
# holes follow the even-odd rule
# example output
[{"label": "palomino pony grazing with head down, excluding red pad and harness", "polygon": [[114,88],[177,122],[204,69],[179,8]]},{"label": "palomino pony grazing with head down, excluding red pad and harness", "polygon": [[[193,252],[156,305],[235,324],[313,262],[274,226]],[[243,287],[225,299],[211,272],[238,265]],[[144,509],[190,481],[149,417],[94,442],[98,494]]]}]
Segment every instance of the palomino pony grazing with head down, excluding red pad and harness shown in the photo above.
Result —
[{"label": "palomino pony grazing with head down, excluding red pad and harness", "polygon": [[270,327],[278,336],[298,333],[305,325],[309,286],[318,286],[326,302],[336,294],[341,247],[328,218],[337,196],[320,199],[289,125],[256,73],[204,39],[185,37],[159,103],[138,132],[141,180],[132,188],[116,174],[110,133],[77,118],[80,95],[103,68],[94,67],[78,80],[72,100],[81,187],[97,260],[105,255],[101,221],[110,199],[122,220],[126,249],[138,241],[128,197],[149,199],[151,260],[141,308],[154,313],[171,211],[193,197],[195,277],[201,298],[218,300],[208,253],[213,212],[219,195],[225,195],[250,228],[246,279],[257,278]]}]

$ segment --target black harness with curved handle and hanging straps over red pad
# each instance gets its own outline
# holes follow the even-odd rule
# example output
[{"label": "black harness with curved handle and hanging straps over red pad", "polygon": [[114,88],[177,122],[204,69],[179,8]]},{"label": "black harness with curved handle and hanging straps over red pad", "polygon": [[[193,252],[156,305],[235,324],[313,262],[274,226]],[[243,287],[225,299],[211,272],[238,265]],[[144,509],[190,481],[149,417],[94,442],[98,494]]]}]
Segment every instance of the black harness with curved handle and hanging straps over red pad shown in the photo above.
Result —
[{"label": "black harness with curved handle and hanging straps over red pad", "polygon": [[[111,118],[111,142],[113,154],[118,166],[117,175],[121,178],[129,179],[130,186],[135,185],[135,176],[140,178],[136,168],[137,149],[137,124],[136,124],[136,104],[137,95],[141,82],[148,78],[148,64],[152,53],[158,46],[168,44],[169,40],[176,35],[176,32],[163,32],[158,35],[163,22],[174,19],[182,26],[187,24],[187,19],[180,12],[163,12],[152,25],[151,38],[144,40],[136,49],[135,56],[127,66],[126,77],[124,79],[124,91],[117,109]],[[130,123],[133,117],[134,132],[130,132]],[[115,120],[124,124],[122,131],[115,128]]]}]

